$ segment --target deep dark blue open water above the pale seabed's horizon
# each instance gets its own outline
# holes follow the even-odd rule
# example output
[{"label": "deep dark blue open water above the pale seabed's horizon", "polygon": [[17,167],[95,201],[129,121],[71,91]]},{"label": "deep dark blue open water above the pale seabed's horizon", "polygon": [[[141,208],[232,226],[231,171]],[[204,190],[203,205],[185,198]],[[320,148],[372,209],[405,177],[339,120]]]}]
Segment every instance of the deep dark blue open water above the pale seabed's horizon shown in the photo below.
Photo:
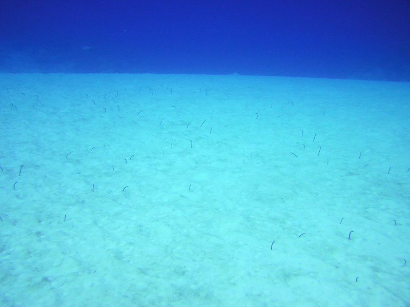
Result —
[{"label": "deep dark blue open water above the pale seabed's horizon", "polygon": [[410,81],[410,2],[8,1],[1,72]]}]

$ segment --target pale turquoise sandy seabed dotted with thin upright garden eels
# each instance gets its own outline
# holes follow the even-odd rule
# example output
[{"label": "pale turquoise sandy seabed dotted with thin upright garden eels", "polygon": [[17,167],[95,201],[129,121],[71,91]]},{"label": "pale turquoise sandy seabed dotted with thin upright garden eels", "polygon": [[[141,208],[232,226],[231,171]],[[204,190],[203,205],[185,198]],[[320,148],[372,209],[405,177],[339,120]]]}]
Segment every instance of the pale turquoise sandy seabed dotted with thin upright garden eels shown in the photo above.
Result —
[{"label": "pale turquoise sandy seabed dotted with thin upright garden eels", "polygon": [[0,80],[2,306],[410,304],[409,83]]}]

